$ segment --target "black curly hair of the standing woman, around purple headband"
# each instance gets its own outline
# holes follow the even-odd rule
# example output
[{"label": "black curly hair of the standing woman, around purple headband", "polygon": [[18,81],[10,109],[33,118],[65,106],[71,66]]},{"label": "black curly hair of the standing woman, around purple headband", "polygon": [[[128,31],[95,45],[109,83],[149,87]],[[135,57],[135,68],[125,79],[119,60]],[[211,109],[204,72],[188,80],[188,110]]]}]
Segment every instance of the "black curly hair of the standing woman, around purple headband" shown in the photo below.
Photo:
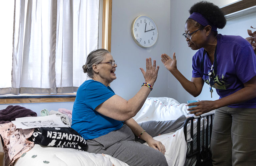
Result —
[{"label": "black curly hair of the standing woman, around purple headband", "polygon": [[[211,2],[201,1],[201,2],[195,3],[189,9],[190,14],[194,12],[197,12],[203,15],[204,18],[206,18],[212,25],[214,25],[219,29],[224,28],[227,23],[224,13],[221,11],[221,9]],[[201,24],[197,24],[195,26],[199,28],[203,28]],[[216,32],[216,35],[217,35],[217,32]]]}]

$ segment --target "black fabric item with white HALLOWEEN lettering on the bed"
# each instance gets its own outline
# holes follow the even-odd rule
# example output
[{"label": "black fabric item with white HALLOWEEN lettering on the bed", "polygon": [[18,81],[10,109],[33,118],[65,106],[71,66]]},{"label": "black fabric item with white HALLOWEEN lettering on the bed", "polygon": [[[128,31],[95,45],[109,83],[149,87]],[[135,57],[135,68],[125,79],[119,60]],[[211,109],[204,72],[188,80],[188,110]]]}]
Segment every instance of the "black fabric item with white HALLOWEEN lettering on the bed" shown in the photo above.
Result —
[{"label": "black fabric item with white HALLOWEEN lettering on the bed", "polygon": [[39,145],[86,151],[86,140],[71,127],[39,127],[29,138]]}]

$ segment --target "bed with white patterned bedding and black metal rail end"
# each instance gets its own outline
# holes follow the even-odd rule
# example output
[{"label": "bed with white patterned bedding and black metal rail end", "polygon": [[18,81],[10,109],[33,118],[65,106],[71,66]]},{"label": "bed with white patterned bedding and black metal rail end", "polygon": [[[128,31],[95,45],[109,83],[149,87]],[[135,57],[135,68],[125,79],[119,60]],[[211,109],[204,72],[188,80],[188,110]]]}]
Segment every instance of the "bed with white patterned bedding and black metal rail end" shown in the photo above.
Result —
[{"label": "bed with white patterned bedding and black metal rail end", "polygon": [[[138,123],[150,120],[175,120],[181,115],[188,117],[183,128],[154,137],[165,145],[165,157],[170,166],[194,166],[208,161],[211,157],[208,152],[214,112],[207,113],[205,117],[193,117],[187,113],[186,104],[180,104],[175,99],[150,97],[134,117]],[[203,153],[204,151],[207,155]],[[14,166],[30,165],[128,166],[107,154],[94,154],[72,148],[45,147],[38,144],[14,162]]]}]

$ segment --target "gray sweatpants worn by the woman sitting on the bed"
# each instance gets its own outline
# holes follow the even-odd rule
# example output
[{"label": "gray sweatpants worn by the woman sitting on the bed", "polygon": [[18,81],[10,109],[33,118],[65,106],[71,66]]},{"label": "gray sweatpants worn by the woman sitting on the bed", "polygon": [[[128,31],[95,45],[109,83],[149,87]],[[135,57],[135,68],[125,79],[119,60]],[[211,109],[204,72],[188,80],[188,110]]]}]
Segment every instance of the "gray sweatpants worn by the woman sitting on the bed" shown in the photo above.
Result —
[{"label": "gray sweatpants worn by the woman sitting on the bed", "polygon": [[[152,137],[176,131],[183,127],[186,117],[182,115],[172,121],[148,121],[139,124]],[[87,151],[111,155],[130,166],[168,166],[165,156],[158,150],[144,145],[132,130],[124,124],[98,138],[87,140]]]}]

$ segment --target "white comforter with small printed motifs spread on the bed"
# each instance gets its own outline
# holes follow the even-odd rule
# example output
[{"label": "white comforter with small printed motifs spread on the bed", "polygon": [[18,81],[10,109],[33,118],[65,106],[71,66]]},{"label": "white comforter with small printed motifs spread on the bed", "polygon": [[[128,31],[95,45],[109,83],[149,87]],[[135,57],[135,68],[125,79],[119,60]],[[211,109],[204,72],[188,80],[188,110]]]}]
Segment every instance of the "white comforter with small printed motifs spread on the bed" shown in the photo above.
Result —
[{"label": "white comforter with small printed motifs spread on the bed", "polygon": [[[174,120],[181,115],[188,116],[186,104],[167,97],[147,98],[145,104],[134,117],[138,122],[149,120]],[[155,137],[166,147],[165,157],[169,166],[183,166],[186,158],[186,142],[183,128]],[[147,143],[145,143],[147,144]],[[94,154],[70,148],[41,147],[35,145],[15,166],[128,166],[126,163],[106,154]]]}]

